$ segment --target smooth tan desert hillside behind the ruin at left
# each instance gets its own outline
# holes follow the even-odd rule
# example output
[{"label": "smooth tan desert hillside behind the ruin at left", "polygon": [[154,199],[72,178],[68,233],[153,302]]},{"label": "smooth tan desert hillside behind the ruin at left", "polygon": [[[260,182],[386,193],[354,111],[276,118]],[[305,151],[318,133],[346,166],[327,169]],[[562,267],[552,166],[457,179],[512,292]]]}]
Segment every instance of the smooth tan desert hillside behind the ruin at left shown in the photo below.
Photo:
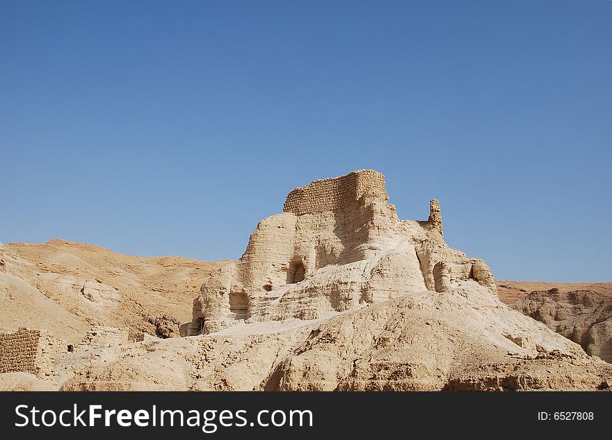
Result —
[{"label": "smooth tan desert hillside behind the ruin at left", "polygon": [[178,336],[202,279],[224,264],[61,239],[0,246],[0,330],[47,329],[68,343],[97,325]]}]

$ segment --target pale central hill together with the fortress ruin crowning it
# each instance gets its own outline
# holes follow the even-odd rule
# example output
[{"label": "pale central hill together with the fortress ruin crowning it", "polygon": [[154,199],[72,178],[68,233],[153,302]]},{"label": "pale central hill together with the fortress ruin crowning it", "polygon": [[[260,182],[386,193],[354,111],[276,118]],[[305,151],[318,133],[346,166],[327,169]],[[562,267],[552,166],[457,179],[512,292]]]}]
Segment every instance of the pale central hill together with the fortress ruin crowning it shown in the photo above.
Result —
[{"label": "pale central hill together with the fortress ruin crowning it", "polygon": [[[428,220],[400,220],[382,175],[366,170],[295,189],[284,211],[204,281],[188,326],[198,336],[127,333],[58,354],[56,389],[609,388],[610,364],[503,304],[483,260],[446,246],[437,201]],[[184,334],[154,316],[159,336]]]}]

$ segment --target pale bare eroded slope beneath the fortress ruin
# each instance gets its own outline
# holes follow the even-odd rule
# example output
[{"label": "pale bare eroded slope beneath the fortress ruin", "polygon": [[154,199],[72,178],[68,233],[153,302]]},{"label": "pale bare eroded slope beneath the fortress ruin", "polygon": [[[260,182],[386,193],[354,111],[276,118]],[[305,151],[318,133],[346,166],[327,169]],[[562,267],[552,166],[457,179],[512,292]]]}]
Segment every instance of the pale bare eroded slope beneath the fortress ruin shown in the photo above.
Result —
[{"label": "pale bare eroded slope beneath the fortress ruin", "polygon": [[325,320],[90,347],[57,369],[67,391],[595,391],[612,377],[612,366],[469,281]]}]

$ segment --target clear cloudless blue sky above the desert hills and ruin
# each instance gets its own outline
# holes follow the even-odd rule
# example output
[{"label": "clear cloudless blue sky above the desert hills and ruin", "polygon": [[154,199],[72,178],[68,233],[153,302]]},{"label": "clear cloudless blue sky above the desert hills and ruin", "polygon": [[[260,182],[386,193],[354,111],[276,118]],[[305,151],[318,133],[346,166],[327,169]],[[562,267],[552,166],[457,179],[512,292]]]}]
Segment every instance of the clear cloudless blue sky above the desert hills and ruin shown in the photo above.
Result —
[{"label": "clear cloudless blue sky above the desert hills and ruin", "polygon": [[236,259],[374,168],[498,279],[612,281],[612,1],[0,3],[0,241]]}]

